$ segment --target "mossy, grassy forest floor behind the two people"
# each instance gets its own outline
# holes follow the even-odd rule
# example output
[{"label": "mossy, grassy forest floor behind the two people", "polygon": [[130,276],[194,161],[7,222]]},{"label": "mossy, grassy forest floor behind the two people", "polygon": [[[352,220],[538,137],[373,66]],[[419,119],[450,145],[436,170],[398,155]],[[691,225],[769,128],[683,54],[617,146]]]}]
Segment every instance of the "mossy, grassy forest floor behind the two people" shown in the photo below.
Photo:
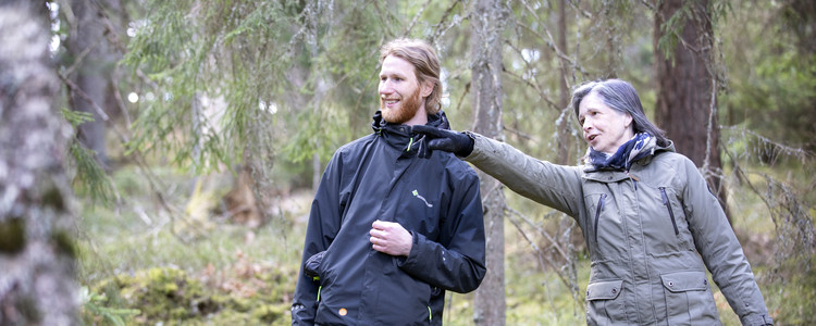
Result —
[{"label": "mossy, grassy forest floor behind the two people", "polygon": [[[289,325],[311,190],[271,196],[272,218],[248,226],[223,213],[220,199],[231,175],[156,174],[161,195],[136,170],[120,168],[112,175],[119,203],[83,203],[77,247],[84,323]],[[742,213],[734,228],[777,325],[813,324],[816,274],[780,273],[767,212],[756,199],[735,198],[732,205]],[[510,193],[508,201],[521,211],[531,206]],[[581,293],[590,264],[582,241],[573,297],[558,273],[540,266],[514,225],[506,223],[505,233],[507,325],[584,325]],[[715,299],[724,325],[740,325],[716,288]],[[446,300],[444,325],[473,325],[473,293],[448,292]]]}]

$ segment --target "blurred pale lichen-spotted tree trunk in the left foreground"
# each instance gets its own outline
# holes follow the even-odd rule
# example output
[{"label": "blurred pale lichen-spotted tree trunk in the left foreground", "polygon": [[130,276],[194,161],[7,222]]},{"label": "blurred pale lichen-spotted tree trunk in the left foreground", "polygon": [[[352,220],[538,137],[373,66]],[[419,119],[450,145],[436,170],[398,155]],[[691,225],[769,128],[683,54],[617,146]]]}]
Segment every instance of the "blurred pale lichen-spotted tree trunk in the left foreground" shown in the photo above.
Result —
[{"label": "blurred pale lichen-spotted tree trunk in the left foreground", "polygon": [[33,2],[0,4],[0,325],[77,325],[67,135]]}]

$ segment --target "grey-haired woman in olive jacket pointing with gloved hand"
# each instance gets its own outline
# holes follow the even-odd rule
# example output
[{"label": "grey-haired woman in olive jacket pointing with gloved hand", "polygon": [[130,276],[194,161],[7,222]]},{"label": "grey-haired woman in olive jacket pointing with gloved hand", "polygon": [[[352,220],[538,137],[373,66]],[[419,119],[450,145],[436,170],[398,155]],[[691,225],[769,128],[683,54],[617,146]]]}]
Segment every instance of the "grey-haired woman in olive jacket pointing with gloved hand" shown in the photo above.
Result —
[{"label": "grey-haired woman in olive jacket pointing with gloved hand", "polygon": [[584,165],[533,159],[474,133],[415,126],[421,153],[456,153],[514,191],[572,216],[592,260],[590,325],[719,325],[706,267],[744,325],[772,325],[754,275],[696,166],[646,118],[634,88],[572,93]]}]

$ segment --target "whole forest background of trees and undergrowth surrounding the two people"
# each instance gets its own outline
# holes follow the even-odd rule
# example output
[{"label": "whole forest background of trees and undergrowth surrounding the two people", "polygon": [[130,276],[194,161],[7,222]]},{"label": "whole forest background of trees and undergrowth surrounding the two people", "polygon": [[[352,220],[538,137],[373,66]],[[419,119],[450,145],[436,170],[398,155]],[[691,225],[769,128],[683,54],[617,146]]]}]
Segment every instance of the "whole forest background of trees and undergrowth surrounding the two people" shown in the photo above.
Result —
[{"label": "whole forest background of trees and undergrowth surrounding the two people", "polygon": [[[437,50],[454,129],[560,164],[570,89],[631,82],[777,324],[816,324],[809,0],[0,1],[0,324],[288,325],[313,189],[397,37]],[[490,272],[444,324],[584,324],[580,229],[480,176]]]}]

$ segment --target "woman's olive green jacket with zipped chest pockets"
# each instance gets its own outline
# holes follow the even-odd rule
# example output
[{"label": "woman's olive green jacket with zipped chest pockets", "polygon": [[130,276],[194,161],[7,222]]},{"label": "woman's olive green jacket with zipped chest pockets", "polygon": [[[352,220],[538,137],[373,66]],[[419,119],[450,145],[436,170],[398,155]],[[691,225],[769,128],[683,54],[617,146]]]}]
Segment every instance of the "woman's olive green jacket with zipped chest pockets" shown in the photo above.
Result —
[{"label": "woman's olive green jacket with zipped chest pockets", "polygon": [[673,145],[626,173],[556,165],[468,134],[463,160],[581,226],[588,324],[719,325],[706,267],[743,325],[772,324],[717,198]]}]

